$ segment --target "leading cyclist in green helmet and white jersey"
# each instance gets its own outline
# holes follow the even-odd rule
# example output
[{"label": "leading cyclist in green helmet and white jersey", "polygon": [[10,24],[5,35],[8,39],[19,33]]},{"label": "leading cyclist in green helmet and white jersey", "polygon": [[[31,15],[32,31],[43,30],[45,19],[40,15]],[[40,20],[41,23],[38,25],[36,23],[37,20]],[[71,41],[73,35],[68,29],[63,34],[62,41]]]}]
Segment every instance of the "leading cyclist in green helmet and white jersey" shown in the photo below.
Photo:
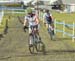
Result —
[{"label": "leading cyclist in green helmet and white jersey", "polygon": [[[27,28],[26,24],[28,23],[29,26],[29,36],[32,35],[32,27],[36,28],[36,33],[39,37],[39,39],[41,40],[40,36],[39,36],[39,19],[38,17],[35,15],[35,13],[33,12],[33,10],[31,8],[27,8],[27,15],[25,16],[25,20],[24,20],[24,29]],[[30,47],[33,46],[33,41],[30,40]]]}]

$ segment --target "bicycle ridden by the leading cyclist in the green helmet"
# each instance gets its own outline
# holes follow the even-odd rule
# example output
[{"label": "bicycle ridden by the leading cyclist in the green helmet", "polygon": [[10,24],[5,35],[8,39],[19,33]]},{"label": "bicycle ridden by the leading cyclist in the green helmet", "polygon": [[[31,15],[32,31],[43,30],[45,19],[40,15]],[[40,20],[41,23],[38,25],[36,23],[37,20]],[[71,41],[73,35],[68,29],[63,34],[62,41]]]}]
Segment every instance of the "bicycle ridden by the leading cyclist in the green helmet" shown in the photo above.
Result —
[{"label": "bicycle ridden by the leading cyclist in the green helmet", "polygon": [[[28,45],[29,45],[29,51],[31,54],[34,54],[35,50],[36,52],[43,52],[45,54],[45,45],[44,43],[39,39],[36,31],[36,27],[32,26],[32,33],[31,36],[28,38]],[[26,31],[26,30],[25,30]],[[30,46],[30,42],[32,42],[32,46]]]}]

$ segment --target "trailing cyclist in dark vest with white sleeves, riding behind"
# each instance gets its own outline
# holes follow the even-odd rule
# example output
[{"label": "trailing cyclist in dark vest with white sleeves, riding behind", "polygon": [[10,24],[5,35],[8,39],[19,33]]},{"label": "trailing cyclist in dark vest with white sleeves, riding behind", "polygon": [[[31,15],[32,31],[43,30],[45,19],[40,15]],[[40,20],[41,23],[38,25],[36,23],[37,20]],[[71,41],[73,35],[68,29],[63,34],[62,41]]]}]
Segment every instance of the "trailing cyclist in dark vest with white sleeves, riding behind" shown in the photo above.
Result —
[{"label": "trailing cyclist in dark vest with white sleeves, riding behind", "polygon": [[45,13],[44,13],[44,24],[46,25],[47,27],[47,30],[49,31],[49,27],[52,31],[52,34],[54,35],[54,21],[53,21],[53,17],[52,17],[52,14],[49,12],[49,10],[45,10]]}]

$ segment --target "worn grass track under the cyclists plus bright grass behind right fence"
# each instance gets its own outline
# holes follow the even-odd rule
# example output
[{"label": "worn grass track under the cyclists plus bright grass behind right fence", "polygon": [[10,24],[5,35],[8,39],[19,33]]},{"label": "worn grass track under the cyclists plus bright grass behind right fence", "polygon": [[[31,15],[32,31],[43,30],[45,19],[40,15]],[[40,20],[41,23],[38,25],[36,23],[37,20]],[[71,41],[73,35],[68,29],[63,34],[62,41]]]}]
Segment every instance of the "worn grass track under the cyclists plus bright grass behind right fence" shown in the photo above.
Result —
[{"label": "worn grass track under the cyclists plus bright grass behind right fence", "polygon": [[[10,16],[11,14],[6,15]],[[75,14],[59,14],[53,12],[53,16],[58,20],[71,22],[75,20]],[[17,16],[24,19],[24,15],[13,14],[8,23],[8,33],[0,40],[0,61],[75,61],[75,43],[72,39],[62,38],[61,33],[56,34],[56,41],[50,40],[41,21],[40,35],[46,47],[46,55],[42,53],[30,54],[28,50],[28,32],[23,31],[23,24]],[[72,21],[71,21],[72,20]]]}]

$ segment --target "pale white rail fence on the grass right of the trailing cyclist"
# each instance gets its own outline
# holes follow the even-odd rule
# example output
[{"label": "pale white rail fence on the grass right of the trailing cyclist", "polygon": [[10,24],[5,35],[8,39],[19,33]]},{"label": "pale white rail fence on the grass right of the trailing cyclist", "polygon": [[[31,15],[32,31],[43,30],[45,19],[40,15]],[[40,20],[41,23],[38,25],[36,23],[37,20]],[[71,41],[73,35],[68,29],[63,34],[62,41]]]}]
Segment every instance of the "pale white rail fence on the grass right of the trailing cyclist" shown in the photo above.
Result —
[{"label": "pale white rail fence on the grass right of the trailing cyclist", "polygon": [[[63,26],[62,30],[56,28],[57,24]],[[74,39],[75,39],[75,23],[74,22],[72,24],[66,24],[65,21],[58,22],[58,21],[55,20],[54,25],[55,25],[55,33],[56,32],[61,32],[61,33],[63,33],[63,37],[65,37],[65,35],[70,36],[72,38],[72,41],[74,42]],[[66,32],[66,30],[65,30],[66,28],[71,30],[72,34],[69,33],[69,32]]]}]

